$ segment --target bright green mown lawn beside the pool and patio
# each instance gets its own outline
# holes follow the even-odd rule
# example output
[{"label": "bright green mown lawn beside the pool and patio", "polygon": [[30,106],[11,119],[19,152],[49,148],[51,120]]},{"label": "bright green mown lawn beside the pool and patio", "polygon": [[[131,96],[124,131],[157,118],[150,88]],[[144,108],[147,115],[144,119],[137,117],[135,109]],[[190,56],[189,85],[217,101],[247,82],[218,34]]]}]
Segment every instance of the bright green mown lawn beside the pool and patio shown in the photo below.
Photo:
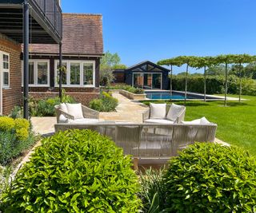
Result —
[{"label": "bright green mown lawn beside the pool and patio", "polygon": [[[229,97],[237,97],[231,96]],[[243,96],[248,101],[229,101],[224,107],[222,101],[189,101],[186,104],[185,120],[206,116],[218,124],[217,137],[229,144],[246,148],[256,155],[256,97]],[[160,103],[160,101],[158,101]],[[148,104],[148,101],[143,101]],[[183,104],[183,102],[175,102]]]}]

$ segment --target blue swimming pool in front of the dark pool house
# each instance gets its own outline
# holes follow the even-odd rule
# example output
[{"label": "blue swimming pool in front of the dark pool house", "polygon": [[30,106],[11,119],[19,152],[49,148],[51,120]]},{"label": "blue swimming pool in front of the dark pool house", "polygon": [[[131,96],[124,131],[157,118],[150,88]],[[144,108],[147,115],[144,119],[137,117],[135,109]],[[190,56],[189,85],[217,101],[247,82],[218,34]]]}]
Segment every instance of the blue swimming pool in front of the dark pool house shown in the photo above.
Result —
[{"label": "blue swimming pool in front of the dark pool house", "polygon": [[[185,93],[184,92],[178,92],[174,91],[172,93],[172,96],[170,95],[170,91],[145,91],[146,97],[151,100],[184,100],[185,99]],[[186,99],[203,99],[203,94],[198,93],[187,93]],[[218,100],[218,97],[212,97],[212,96],[206,96],[207,100]]]}]

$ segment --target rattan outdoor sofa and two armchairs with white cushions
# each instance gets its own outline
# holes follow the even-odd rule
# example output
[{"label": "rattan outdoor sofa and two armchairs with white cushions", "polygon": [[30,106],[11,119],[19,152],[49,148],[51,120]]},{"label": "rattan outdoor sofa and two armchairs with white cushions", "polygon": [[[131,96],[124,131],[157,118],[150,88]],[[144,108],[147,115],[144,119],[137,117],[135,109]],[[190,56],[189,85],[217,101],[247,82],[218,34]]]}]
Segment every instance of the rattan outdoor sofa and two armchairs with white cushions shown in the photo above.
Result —
[{"label": "rattan outdoor sofa and two armchairs with white cushions", "polygon": [[142,114],[143,123],[99,120],[99,112],[81,104],[56,105],[55,131],[91,129],[109,136],[124,154],[138,158],[170,158],[194,142],[214,142],[217,124],[206,118],[184,121],[186,108],[150,104]]}]

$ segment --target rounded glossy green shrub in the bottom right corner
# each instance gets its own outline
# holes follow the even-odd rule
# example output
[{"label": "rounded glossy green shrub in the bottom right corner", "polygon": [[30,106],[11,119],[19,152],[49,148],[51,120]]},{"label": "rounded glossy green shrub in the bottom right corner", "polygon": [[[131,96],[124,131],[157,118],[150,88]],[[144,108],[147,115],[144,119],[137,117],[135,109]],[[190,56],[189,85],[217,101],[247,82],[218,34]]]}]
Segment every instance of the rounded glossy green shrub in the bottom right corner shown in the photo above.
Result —
[{"label": "rounded glossy green shrub in the bottom right corner", "polygon": [[256,160],[241,148],[198,143],[170,160],[168,212],[255,212]]}]

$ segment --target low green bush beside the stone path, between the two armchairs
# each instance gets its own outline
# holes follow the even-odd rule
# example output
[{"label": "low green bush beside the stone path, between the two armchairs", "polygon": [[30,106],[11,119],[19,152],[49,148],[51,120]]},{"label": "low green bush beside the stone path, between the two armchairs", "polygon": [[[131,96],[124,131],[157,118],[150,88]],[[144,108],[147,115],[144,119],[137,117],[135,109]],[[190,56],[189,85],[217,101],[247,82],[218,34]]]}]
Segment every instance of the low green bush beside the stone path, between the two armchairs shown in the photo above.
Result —
[{"label": "low green bush beside the stone path, between the two armchairs", "polygon": [[98,112],[112,112],[118,106],[118,100],[111,93],[102,92],[99,99],[90,101],[90,108]]}]

